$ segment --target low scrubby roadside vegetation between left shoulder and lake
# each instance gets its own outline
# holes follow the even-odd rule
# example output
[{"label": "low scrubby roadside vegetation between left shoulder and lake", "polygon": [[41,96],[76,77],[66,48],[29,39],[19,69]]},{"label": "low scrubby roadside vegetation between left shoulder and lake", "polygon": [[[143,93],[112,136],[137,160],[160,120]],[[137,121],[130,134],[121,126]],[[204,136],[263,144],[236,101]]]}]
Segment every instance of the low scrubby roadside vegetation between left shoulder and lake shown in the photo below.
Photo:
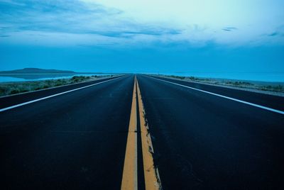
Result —
[{"label": "low scrubby roadside vegetation between left shoulder and lake", "polygon": [[87,82],[100,77],[112,77],[112,75],[104,76],[74,76],[70,79],[49,79],[31,82],[5,82],[0,83],[0,96],[19,94],[27,91],[36,91],[40,89],[48,89],[55,86],[66,84],[75,84],[79,82]]}]

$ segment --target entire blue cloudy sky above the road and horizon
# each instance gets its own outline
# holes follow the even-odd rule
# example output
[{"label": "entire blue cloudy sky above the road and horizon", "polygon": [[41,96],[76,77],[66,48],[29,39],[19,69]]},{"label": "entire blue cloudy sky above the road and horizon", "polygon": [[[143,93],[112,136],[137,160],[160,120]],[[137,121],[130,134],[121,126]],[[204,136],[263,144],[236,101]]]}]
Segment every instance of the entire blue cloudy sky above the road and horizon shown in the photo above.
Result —
[{"label": "entire blue cloudy sky above the road and horizon", "polygon": [[0,0],[0,70],[284,82],[283,0]]}]

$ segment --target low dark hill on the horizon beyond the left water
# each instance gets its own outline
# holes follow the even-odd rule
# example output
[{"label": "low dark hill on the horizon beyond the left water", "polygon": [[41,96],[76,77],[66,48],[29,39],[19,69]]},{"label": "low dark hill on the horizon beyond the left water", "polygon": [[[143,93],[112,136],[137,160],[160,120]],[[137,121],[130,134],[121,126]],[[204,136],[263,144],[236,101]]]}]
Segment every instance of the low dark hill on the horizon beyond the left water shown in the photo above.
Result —
[{"label": "low dark hill on the horizon beyond the left water", "polygon": [[24,68],[11,71],[2,71],[0,74],[72,74],[73,71],[56,70],[56,69],[38,69],[38,68]]}]

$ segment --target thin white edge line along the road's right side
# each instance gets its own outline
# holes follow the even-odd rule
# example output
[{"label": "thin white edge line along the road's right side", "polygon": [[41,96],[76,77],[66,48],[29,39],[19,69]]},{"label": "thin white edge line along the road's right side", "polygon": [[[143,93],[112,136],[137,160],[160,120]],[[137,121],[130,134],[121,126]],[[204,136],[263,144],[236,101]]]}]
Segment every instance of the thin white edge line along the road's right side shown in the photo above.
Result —
[{"label": "thin white edge line along the road's right side", "polygon": [[[147,76],[149,77],[149,76]],[[151,77],[153,79],[156,79],[155,77]],[[162,79],[156,79],[156,80],[160,80],[160,81],[163,81],[163,82],[168,82],[168,81],[165,81],[165,80],[162,80]],[[266,106],[261,106],[261,105],[258,105],[258,104],[253,104],[253,103],[250,103],[248,101],[242,101],[242,100],[239,100],[239,99],[234,99],[234,98],[231,98],[229,96],[224,96],[224,95],[221,95],[221,94],[216,94],[216,93],[213,93],[213,92],[210,92],[210,91],[204,91],[204,90],[201,90],[201,89],[195,89],[193,87],[190,87],[190,86],[185,86],[185,85],[182,85],[182,84],[178,84],[178,83],[175,83],[175,82],[168,82],[170,84],[175,84],[175,85],[178,85],[178,86],[183,86],[185,88],[188,88],[188,89],[193,89],[193,90],[196,90],[196,91],[202,91],[204,93],[207,93],[207,94],[212,94],[214,96],[219,96],[219,97],[222,97],[224,99],[229,99],[229,100],[232,100],[232,101],[237,101],[239,103],[243,103],[243,104],[247,104],[247,105],[250,105],[250,106],[255,106],[257,108],[262,108],[262,109],[265,109],[265,110],[268,110],[268,111],[273,111],[275,113],[280,113],[280,114],[283,114],[284,115],[284,111],[280,111],[280,110],[277,110],[277,109],[273,109],[273,108],[268,108]]]}]

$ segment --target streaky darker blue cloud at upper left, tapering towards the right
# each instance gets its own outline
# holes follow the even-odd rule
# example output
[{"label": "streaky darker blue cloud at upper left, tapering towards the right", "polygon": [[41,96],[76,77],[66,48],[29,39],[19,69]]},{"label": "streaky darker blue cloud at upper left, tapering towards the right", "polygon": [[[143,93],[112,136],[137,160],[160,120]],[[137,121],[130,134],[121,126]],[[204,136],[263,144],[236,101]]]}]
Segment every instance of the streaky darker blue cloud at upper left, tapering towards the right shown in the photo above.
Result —
[{"label": "streaky darker blue cloud at upper left, tapering towards the right", "polygon": [[158,28],[120,18],[123,12],[99,4],[64,0],[0,0],[0,20],[11,31],[43,31],[55,33],[95,34],[112,38],[135,35],[175,35],[181,31]]}]

